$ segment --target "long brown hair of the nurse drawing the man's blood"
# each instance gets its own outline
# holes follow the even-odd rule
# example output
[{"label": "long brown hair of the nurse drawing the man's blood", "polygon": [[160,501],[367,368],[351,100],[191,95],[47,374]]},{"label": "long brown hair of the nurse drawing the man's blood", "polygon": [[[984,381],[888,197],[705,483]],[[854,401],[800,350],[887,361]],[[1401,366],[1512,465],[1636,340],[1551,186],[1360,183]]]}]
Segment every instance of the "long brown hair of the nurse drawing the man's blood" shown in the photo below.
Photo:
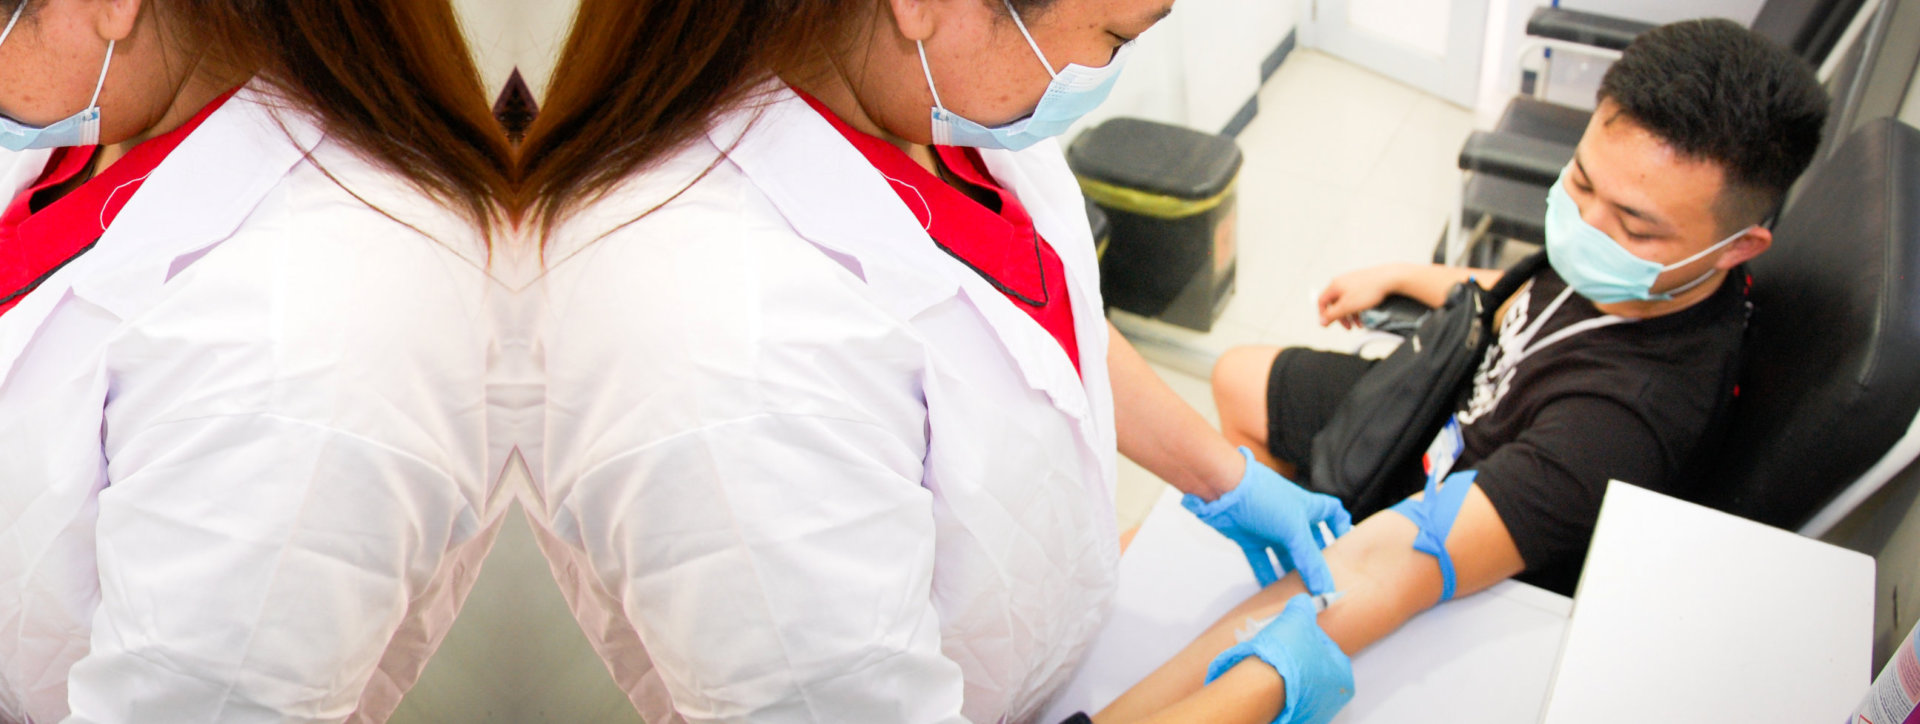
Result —
[{"label": "long brown hair of the nurse drawing the man's blood", "polygon": [[582,0],[520,144],[536,227],[701,136],[762,83],[818,63],[876,12],[885,0]]}]

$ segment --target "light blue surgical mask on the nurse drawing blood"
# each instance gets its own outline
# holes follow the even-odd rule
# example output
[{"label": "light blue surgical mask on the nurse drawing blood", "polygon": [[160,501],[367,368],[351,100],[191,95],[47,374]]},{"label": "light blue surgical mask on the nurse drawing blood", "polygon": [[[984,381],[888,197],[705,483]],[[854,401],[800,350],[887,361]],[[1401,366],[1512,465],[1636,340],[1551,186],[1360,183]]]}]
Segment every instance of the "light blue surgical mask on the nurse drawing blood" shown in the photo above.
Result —
[{"label": "light blue surgical mask on the nurse drawing blood", "polygon": [[1046,61],[1046,54],[1041,46],[1033,42],[1033,35],[1027,33],[1027,23],[1020,19],[1020,12],[1014,4],[1006,4],[1006,12],[1014,13],[1014,25],[1020,27],[1020,35],[1027,38],[1027,46],[1033,54],[1041,58],[1041,65],[1046,73],[1054,77],[1046,84],[1046,94],[1041,96],[1041,104],[1033,108],[1027,117],[1002,125],[1002,127],[983,127],[979,123],[968,121],[954,111],[948,111],[941,104],[941,92],[933,90],[933,67],[927,65],[927,48],[920,44],[920,69],[927,73],[927,90],[933,92],[933,144],[937,146],[973,146],[973,148],[1006,148],[1021,150],[1041,142],[1043,138],[1052,138],[1068,133],[1073,121],[1092,111],[1106,100],[1106,94],[1114,90],[1114,81],[1119,79],[1119,69],[1127,61],[1127,54],[1133,52],[1133,42],[1125,42],[1114,52],[1114,60],[1102,67],[1087,67],[1068,63],[1066,69],[1054,73],[1054,63]]}]

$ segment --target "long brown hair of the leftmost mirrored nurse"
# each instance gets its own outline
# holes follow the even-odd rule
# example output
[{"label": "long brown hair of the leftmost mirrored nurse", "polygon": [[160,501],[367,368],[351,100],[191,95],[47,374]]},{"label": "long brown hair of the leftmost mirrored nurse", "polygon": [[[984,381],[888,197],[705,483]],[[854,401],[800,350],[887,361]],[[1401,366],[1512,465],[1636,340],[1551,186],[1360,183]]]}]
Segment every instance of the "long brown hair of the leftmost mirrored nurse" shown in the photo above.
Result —
[{"label": "long brown hair of the leftmost mirrored nurse", "polygon": [[[0,0],[0,10],[19,2]],[[177,40],[255,73],[332,138],[482,229],[497,221],[511,194],[511,152],[451,2],[148,2],[169,33],[182,35]]]}]

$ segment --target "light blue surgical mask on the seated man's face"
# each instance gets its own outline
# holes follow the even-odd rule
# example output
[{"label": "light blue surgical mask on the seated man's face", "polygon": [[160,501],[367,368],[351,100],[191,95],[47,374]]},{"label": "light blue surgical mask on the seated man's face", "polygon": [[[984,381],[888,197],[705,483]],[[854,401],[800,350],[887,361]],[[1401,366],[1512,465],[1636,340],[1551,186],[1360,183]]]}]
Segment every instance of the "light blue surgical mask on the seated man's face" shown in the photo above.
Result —
[{"label": "light blue surgical mask on the seated man's face", "polygon": [[1713,269],[1699,275],[1699,278],[1670,288],[1661,294],[1653,294],[1653,282],[1661,273],[1686,267],[1701,257],[1732,244],[1736,238],[1747,232],[1741,229],[1720,240],[1715,246],[1701,250],[1686,259],[1659,265],[1642,257],[1636,257],[1624,246],[1607,236],[1607,232],[1594,229],[1594,225],[1580,219],[1580,207],[1567,196],[1567,171],[1561,171],[1559,181],[1548,190],[1548,263],[1559,273],[1567,286],[1596,303],[1619,303],[1619,302],[1667,302],[1674,294],[1686,292],[1699,286],[1713,277]]}]

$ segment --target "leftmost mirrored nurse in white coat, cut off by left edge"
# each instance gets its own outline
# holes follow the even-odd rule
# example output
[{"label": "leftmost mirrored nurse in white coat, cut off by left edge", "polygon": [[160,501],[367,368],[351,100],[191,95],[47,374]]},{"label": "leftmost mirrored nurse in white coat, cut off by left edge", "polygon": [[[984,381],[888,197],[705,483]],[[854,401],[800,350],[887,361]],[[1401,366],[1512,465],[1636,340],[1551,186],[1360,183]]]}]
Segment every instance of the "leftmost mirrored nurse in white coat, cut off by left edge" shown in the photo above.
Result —
[{"label": "leftmost mirrored nurse in white coat, cut off by left edge", "polygon": [[505,146],[417,8],[0,0],[0,720],[378,722],[438,645]]}]

